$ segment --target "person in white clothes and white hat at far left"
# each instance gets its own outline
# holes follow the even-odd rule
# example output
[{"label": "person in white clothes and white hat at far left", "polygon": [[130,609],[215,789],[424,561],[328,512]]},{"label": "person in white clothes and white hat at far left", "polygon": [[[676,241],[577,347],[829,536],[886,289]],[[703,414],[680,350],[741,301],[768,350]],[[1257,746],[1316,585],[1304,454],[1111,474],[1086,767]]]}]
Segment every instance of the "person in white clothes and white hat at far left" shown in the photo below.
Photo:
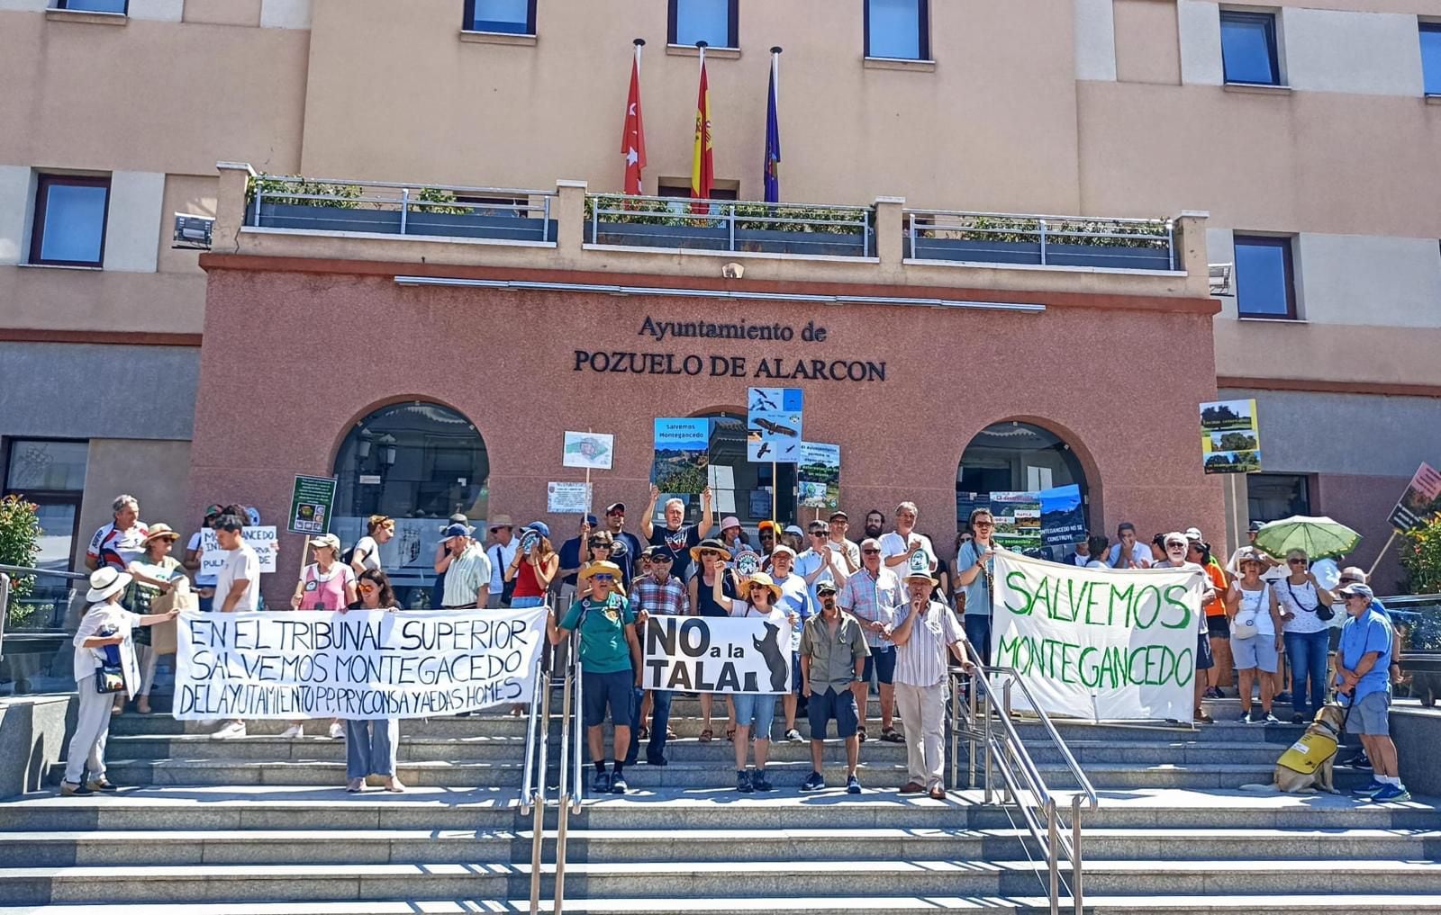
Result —
[{"label": "person in white clothes and white hat at far left", "polygon": [[[176,619],[179,613],[170,610],[141,616],[125,610],[120,596],[131,581],[130,573],[117,571],[110,565],[95,570],[89,577],[85,600],[91,607],[81,617],[81,624],[71,640],[75,646],[72,663],[79,712],[69,755],[65,758],[65,778],[61,781],[61,794],[65,796],[115,790],[115,786],[105,778],[105,741],[110,737],[112,709],[110,693],[117,688],[138,686],[140,669],[135,665],[131,633],[137,626],[164,623]],[[81,781],[86,771],[89,780]]]}]

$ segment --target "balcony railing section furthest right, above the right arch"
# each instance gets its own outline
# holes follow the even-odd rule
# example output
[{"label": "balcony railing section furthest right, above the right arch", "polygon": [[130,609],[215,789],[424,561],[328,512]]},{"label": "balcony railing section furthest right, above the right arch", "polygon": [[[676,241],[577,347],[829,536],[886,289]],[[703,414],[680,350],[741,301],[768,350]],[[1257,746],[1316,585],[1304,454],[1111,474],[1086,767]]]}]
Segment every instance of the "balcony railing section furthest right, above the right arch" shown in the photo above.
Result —
[{"label": "balcony railing section furthest right, above the right arch", "polygon": [[905,256],[916,260],[1174,270],[1169,219],[1094,219],[905,210]]}]

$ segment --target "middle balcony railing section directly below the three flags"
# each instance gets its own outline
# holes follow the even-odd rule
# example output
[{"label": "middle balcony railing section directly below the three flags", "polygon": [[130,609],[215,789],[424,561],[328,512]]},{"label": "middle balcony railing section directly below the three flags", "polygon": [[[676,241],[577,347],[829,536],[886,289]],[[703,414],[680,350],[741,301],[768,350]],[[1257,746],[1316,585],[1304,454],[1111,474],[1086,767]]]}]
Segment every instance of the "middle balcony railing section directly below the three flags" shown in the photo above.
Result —
[{"label": "middle balcony railing section directly below the three flags", "polygon": [[628,247],[870,258],[872,207],[585,196],[586,242]]}]

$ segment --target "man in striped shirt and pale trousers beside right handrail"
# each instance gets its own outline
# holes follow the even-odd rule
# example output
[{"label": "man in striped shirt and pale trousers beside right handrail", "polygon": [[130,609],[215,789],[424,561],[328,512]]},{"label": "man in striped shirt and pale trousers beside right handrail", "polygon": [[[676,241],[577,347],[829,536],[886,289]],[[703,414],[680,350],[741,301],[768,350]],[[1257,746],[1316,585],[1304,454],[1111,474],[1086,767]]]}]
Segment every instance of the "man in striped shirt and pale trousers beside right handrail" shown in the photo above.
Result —
[{"label": "man in striped shirt and pale trousers beside right handrail", "polygon": [[905,758],[909,778],[902,794],[928,791],[945,798],[945,673],[947,655],[955,655],[970,672],[974,652],[945,604],[931,600],[938,584],[928,573],[906,575],[909,603],[896,609],[896,622],[885,637],[896,646],[895,693],[905,721]]}]

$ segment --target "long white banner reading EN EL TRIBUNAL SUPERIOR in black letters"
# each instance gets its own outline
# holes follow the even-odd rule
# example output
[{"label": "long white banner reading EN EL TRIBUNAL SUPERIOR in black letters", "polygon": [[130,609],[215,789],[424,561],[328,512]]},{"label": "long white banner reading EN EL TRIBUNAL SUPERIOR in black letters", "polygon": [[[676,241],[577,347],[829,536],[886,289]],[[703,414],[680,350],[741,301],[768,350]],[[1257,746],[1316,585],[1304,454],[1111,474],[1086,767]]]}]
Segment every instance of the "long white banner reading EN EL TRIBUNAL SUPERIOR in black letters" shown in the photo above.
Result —
[{"label": "long white banner reading EN EL TRIBUNAL SUPERIOR in black letters", "polygon": [[174,716],[427,718],[523,702],[545,613],[182,613]]}]

